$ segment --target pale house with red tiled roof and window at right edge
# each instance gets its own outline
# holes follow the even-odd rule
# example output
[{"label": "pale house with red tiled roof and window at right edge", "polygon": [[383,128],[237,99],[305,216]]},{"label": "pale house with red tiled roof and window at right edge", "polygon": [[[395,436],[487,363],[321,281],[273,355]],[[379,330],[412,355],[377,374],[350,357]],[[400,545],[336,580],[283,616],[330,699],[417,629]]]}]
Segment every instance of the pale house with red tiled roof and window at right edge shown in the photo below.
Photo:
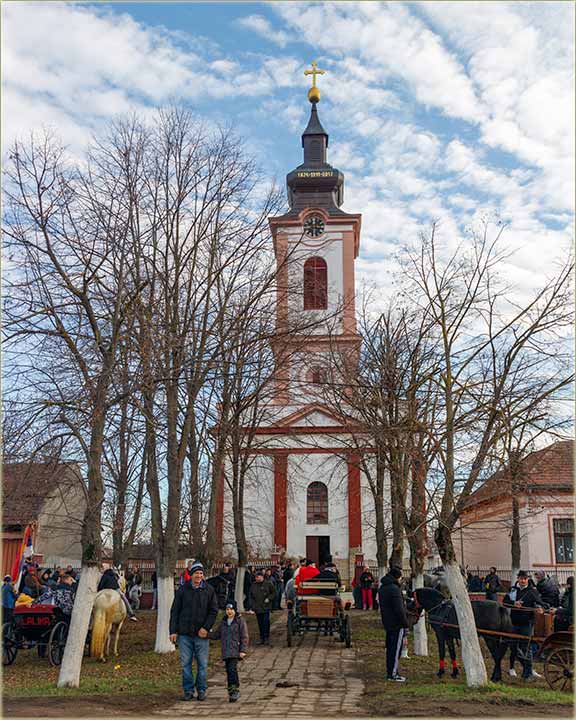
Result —
[{"label": "pale house with red tiled roof and window at right edge", "polygon": [[499,471],[472,493],[455,531],[470,568],[511,566],[512,492],[519,500],[521,565],[554,573],[574,565],[574,442],[527,455],[513,484]]}]

